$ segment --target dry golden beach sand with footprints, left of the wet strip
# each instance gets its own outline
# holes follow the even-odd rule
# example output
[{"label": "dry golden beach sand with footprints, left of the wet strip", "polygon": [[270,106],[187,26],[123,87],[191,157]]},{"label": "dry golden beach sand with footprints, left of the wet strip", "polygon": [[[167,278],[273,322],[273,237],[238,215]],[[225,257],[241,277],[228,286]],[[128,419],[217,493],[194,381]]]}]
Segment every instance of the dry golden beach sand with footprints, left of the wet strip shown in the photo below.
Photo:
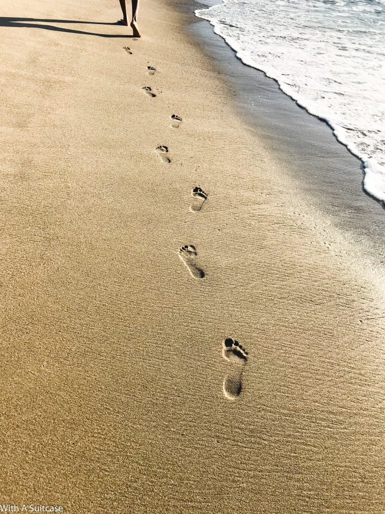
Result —
[{"label": "dry golden beach sand with footprints, left of the wet strip", "polygon": [[383,270],[176,6],[0,7],[0,503],[378,514]]}]

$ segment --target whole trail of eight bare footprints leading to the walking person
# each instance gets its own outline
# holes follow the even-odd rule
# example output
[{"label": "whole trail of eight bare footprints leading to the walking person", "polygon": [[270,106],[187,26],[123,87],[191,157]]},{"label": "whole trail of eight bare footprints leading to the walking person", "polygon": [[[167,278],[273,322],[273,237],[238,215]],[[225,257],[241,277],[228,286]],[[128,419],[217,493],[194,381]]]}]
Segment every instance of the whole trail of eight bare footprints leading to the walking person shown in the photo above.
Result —
[{"label": "whole trail of eight bare footprints leading to the walking person", "polygon": [[[127,53],[132,54],[128,46],[123,47],[123,49]],[[148,75],[154,75],[155,72],[155,67],[150,65],[147,66]],[[151,98],[155,98],[157,96],[155,93],[153,93],[150,86],[143,86],[142,90]],[[179,128],[181,126],[182,118],[180,116],[172,114],[170,118],[170,126],[172,128]],[[157,146],[156,152],[163,162],[167,164],[171,162],[171,159],[168,155],[168,146],[161,144]],[[195,186],[192,188],[191,195],[194,200],[190,205],[190,211],[199,212],[205,204],[208,195],[200,186]],[[205,272],[199,266],[197,259],[198,252],[194,245],[184,245],[179,248],[179,257],[192,278],[197,280],[205,278]],[[222,344],[222,357],[227,362],[227,372],[223,380],[223,395],[227,400],[234,401],[240,396],[242,392],[242,376],[245,365],[247,363],[248,353],[236,339],[228,337],[223,341]]]}]

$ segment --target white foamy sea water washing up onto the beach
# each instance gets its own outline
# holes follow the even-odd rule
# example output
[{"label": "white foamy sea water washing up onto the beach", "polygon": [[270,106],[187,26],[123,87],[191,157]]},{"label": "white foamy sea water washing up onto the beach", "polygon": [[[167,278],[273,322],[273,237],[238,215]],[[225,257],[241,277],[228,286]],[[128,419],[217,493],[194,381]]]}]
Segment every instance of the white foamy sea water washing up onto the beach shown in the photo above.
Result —
[{"label": "white foamy sea water washing up onto the beach", "polygon": [[196,15],[328,122],[385,201],[385,0],[224,0]]}]

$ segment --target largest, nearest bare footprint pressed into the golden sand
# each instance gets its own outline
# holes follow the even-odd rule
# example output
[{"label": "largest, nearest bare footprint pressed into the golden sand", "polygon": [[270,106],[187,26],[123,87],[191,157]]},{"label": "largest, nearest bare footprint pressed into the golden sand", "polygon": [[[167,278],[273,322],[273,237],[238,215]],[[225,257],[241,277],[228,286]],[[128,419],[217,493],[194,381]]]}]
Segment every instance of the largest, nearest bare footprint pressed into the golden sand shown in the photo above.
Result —
[{"label": "largest, nearest bare footprint pressed into the golden sand", "polygon": [[223,380],[223,394],[228,400],[236,400],[242,391],[242,373],[248,353],[235,339],[228,337],[223,341],[222,356],[230,363]]}]

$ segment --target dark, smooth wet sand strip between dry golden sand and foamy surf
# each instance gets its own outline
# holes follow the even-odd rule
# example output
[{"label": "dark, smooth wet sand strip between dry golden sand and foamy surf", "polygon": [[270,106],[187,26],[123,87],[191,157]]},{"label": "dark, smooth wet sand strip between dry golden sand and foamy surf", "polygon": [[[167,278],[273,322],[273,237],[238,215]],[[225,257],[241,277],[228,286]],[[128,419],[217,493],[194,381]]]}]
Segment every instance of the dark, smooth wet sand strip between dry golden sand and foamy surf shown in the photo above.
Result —
[{"label": "dark, smooth wet sand strip between dry golden sand and foamy surf", "polygon": [[[196,1],[186,31],[232,88],[239,115],[310,203],[358,244],[371,247],[371,259],[382,268],[385,212],[381,201],[363,187],[361,159],[336,138],[325,120],[298,105],[275,79],[244,64],[208,21],[195,16],[196,8],[215,4]],[[179,5],[186,13],[190,10],[188,4]]]}]

